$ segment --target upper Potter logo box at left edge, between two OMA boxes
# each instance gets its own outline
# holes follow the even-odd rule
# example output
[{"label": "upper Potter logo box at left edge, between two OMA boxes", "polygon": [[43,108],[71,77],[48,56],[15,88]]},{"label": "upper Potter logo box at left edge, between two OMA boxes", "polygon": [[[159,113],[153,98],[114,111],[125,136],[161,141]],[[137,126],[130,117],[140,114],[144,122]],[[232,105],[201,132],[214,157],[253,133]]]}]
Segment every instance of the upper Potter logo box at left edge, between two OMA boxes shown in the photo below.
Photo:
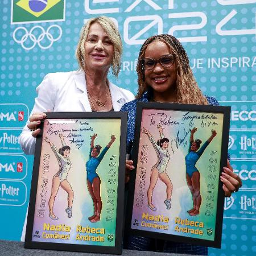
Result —
[{"label": "upper Potter logo box at left edge, between two OMA boxes", "polygon": [[0,152],[3,154],[23,154],[19,145],[20,130],[0,130]]}]

